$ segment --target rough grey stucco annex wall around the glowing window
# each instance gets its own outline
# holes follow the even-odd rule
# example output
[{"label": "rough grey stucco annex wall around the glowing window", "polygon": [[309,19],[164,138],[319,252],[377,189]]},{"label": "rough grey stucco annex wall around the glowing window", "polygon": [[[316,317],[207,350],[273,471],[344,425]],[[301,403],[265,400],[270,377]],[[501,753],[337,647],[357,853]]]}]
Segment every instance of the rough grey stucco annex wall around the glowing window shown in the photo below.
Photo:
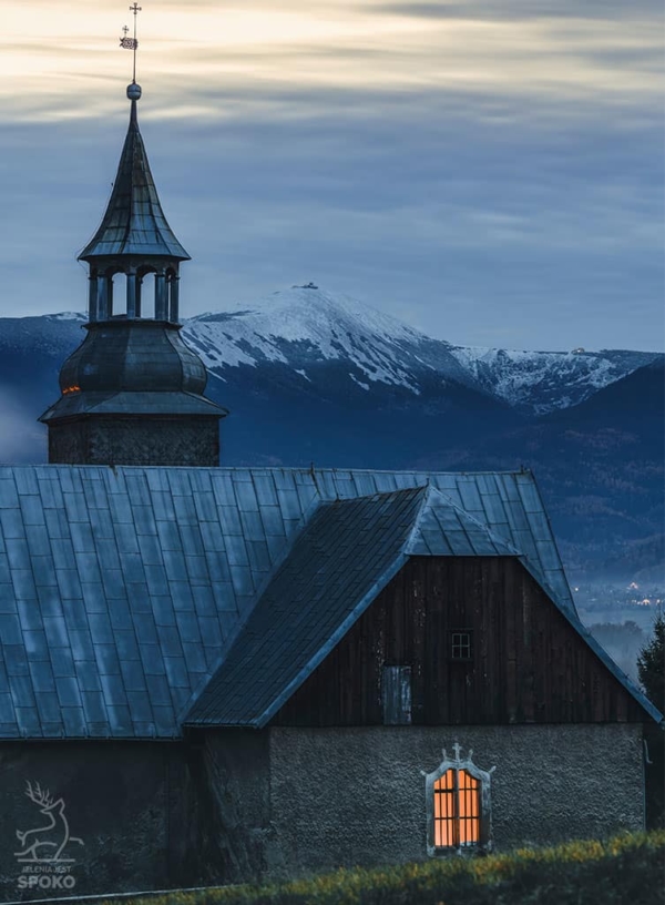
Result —
[{"label": "rough grey stucco annex wall around the glowing window", "polygon": [[424,777],[473,749],[495,848],[644,825],[642,726],[272,729],[274,872],[427,857]]}]

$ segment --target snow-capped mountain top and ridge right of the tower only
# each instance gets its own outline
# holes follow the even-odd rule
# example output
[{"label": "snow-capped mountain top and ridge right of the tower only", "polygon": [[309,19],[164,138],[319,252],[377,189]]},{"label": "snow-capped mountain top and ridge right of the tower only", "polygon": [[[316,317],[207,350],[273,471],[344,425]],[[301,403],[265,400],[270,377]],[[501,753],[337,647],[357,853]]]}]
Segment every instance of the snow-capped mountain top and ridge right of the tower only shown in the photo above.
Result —
[{"label": "snow-capped mountain top and ridge right of the tower only", "polygon": [[579,405],[659,357],[642,352],[452,346],[313,284],[276,292],[236,312],[193,317],[184,336],[223,379],[227,368],[273,362],[311,382],[311,366],[346,363],[348,380],[366,392],[383,384],[418,396],[423,384],[430,386],[438,378],[484,392],[532,415]]}]

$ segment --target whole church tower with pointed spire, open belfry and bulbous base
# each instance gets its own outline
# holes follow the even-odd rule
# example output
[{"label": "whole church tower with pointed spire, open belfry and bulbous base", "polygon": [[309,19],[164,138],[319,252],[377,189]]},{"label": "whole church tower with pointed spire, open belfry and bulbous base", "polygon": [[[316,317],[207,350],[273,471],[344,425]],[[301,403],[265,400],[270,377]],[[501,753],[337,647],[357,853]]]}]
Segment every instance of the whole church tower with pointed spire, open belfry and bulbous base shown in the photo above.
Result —
[{"label": "whole church tower with pointed spire, open belfry and bulbous base", "polygon": [[[60,399],[40,418],[49,461],[216,466],[219,419],[228,413],[203,395],[205,367],[180,335],[180,266],[190,255],[160,204],[135,81],[127,98],[130,128],[111,200],[79,255],[90,268],[88,335],[62,366]],[[153,298],[144,292],[151,274]]]}]

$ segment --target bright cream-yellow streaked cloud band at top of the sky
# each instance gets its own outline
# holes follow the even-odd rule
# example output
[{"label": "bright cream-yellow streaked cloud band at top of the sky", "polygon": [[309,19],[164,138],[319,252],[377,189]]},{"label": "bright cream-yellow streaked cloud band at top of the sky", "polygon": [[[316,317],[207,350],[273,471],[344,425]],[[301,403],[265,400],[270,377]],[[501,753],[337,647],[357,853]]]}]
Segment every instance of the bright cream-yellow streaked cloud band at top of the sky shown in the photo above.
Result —
[{"label": "bright cream-yellow streaked cloud band at top of the sky", "polygon": [[[142,14],[140,75],[161,115],[171,106],[192,120],[219,114],[212,94],[231,99],[232,111],[242,113],[245,103],[279,104],[294,89],[310,103],[324,103],[330,90],[438,90],[471,101],[644,106],[659,103],[654,75],[662,41],[654,19],[661,18],[651,0],[162,4],[158,16]],[[112,37],[117,26],[110,0],[85,20],[24,0],[12,22],[0,61],[6,121],[111,112],[131,57]],[[170,104],[160,105],[166,98]]]}]

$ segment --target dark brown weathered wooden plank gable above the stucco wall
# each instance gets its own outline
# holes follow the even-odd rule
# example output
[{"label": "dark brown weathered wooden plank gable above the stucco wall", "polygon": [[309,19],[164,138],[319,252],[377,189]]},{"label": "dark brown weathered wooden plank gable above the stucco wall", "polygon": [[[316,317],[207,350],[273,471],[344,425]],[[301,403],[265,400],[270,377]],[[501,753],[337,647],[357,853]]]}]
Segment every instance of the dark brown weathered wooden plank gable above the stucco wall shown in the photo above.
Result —
[{"label": "dark brown weathered wooden plank gable above the stucco wall", "polygon": [[[454,629],[472,632],[470,661],[450,657]],[[382,723],[383,665],[411,667],[415,724],[645,719],[510,557],[412,557],[273,722]]]}]

